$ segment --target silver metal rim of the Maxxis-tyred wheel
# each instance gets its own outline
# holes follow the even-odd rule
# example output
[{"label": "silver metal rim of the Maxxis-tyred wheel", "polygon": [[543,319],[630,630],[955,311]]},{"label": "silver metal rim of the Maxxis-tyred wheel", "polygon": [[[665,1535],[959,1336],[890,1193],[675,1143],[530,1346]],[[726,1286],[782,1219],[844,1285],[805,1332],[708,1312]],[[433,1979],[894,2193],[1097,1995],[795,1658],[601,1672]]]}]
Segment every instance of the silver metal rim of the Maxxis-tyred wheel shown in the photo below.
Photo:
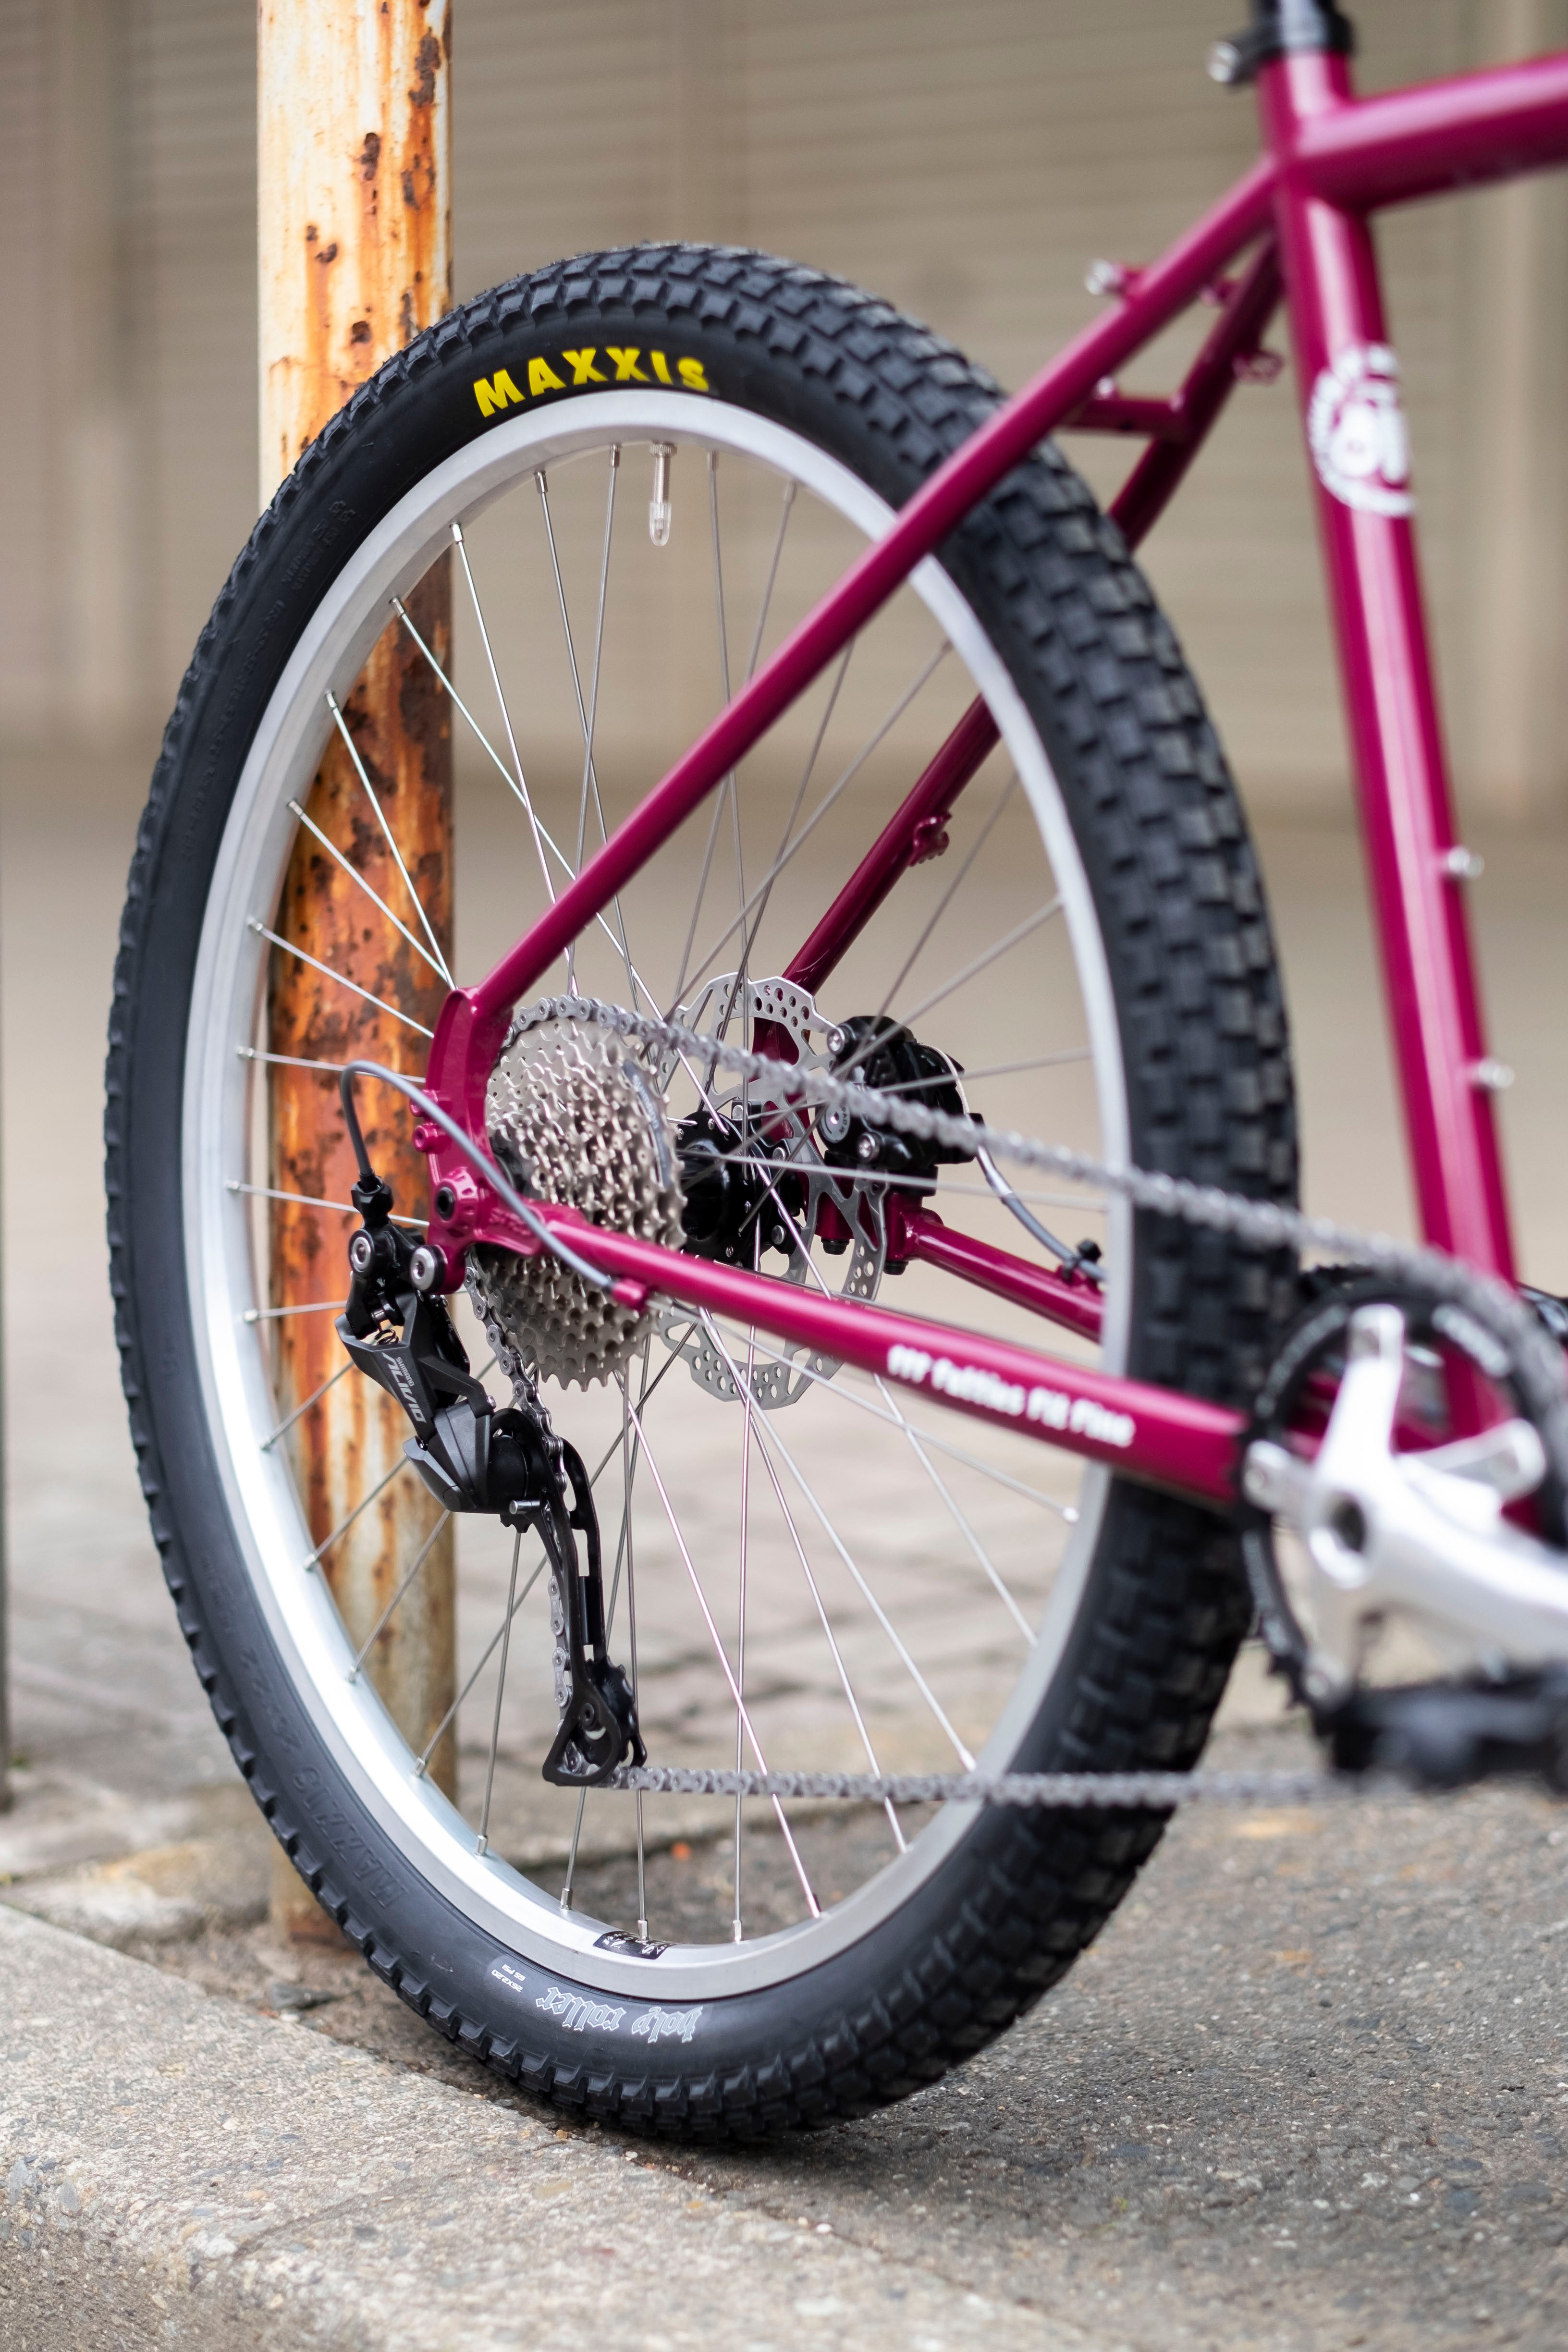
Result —
[{"label": "silver metal rim of the Maxxis-tyred wheel", "polygon": [[[524,1959],[531,1957],[545,1966],[564,1969],[585,1985],[628,1994],[646,1994],[649,1964],[597,1950],[597,1936],[607,1922],[562,1912],[559,1891],[529,1879],[494,1844],[489,1851],[477,1851],[477,1802],[473,1806],[475,1818],[468,1818],[468,1809],[458,1811],[430,1780],[421,1778],[411,1769],[407,1743],[376,1693],[362,1677],[353,1679],[353,1649],[331,1595],[322,1578],[308,1573],[303,1566],[313,1545],[284,1458],[287,1449],[268,1444],[280,1416],[270,1385],[266,1322],[256,1319],[256,1310],[266,1301],[259,1291],[249,1202],[235,1190],[235,1183],[254,1174],[254,1162],[247,1155],[254,1134],[252,1089],[256,1070],[254,1063],[242,1058],[242,1049],[256,1035],[268,955],[273,953],[256,924],[270,929],[273,906],[296,835],[296,818],[289,814],[289,802],[306,797],[322,755],[331,727],[327,699],[348,696],[369,647],[393,609],[393,600],[407,597],[433,557],[451,546],[454,522],[461,522],[473,539],[480,517],[491,508],[501,513],[498,501],[503,501],[505,492],[517,485],[531,485],[541,470],[548,480],[550,470],[583,463],[585,459],[592,461],[595,452],[604,454],[611,445],[637,454],[637,463],[642,463],[642,452],[658,442],[668,442],[679,452],[677,475],[682,475],[689,456],[705,459],[708,452],[715,452],[726,466],[731,461],[743,463],[750,470],[748,477],[771,475],[773,482],[785,485],[785,510],[790,496],[804,492],[825,517],[849,524],[865,539],[875,539],[889,527],[891,513],[882,499],[835,459],[780,426],[693,395],[585,395],[569,407],[545,409],[538,416],[524,414],[501,423],[487,437],[430,473],[376,527],[313,614],[244,762],[202,927],[186,1049],[181,1138],[193,1338],[207,1423],[240,1557],[301,1703],[308,1708],[348,1788],[437,1893]],[[686,470],[696,473],[696,466]],[[1044,844],[1053,889],[1060,898],[1060,920],[1070,943],[1072,978],[1084,1023],[1086,1063],[1093,1077],[1095,1141],[1112,1162],[1126,1160],[1126,1089],[1110,976],[1088,884],[1056,779],[1011,680],[952,581],[933,562],[926,562],[914,574],[910,590],[924,607],[929,623],[933,623],[952,649],[950,661],[957,656],[957,663],[969,673],[971,691],[978,687],[985,694],[999,724],[1004,741],[1001,757],[1011,762],[1016,783],[1027,800],[1037,840]],[[458,588],[458,593],[463,590]],[[762,628],[757,628],[757,637],[762,640]],[[480,659],[477,649],[475,659]],[[564,659],[559,640],[557,659]],[[583,668],[585,663],[578,666],[578,684]],[[741,659],[736,656],[738,668]],[[458,694],[463,694],[461,680]],[[595,767],[590,722],[588,739],[585,776]],[[670,743],[670,750],[677,748],[679,743]],[[646,779],[642,779],[642,788],[656,781],[663,764],[654,762]],[[583,786],[583,807],[588,807],[588,781]],[[976,811],[976,823],[983,814],[980,809]],[[592,818],[588,823],[588,849],[592,849],[597,833],[592,830]],[[865,837],[870,840],[870,830]],[[571,847],[567,844],[567,851]],[[536,811],[529,811],[527,821],[522,821],[520,811],[517,856],[520,873],[524,856],[531,861],[538,887],[538,858],[543,854]],[[409,934],[404,931],[404,936]],[[414,946],[418,946],[418,938],[414,938]],[[712,957],[710,969],[715,969]],[[458,978],[463,976],[458,974]],[[929,988],[912,988],[917,1004],[924,997],[931,997],[936,1004],[938,995]],[[900,1018],[917,1018],[910,1011],[907,995],[893,1004],[893,1011]],[[976,1068],[973,1056],[969,1056],[969,1065]],[[973,1176],[976,1171],[961,1174]],[[1121,1367],[1128,1315],[1126,1211],[1107,1204],[1103,1230],[1110,1275],[1100,1359]],[[983,1322],[983,1301],[978,1294],[950,1296],[945,1312],[950,1317],[971,1312],[976,1322]],[[745,1334],[724,1336],[724,1348],[745,1348]],[[677,1383],[684,1397],[693,1395],[686,1371],[679,1367],[663,1383],[665,1392]],[[574,1390],[571,1395],[576,1399],[578,1392]],[[837,1402],[839,1395],[846,1397],[849,1385],[835,1390],[839,1421],[849,1421],[851,1416]],[[548,1402],[557,1425],[567,1435],[574,1435],[571,1414],[562,1399],[550,1395]],[[632,1397],[635,1402],[637,1397]],[[870,1418],[867,1414],[853,1414],[856,1425],[870,1430],[875,1418],[882,1421],[891,1437],[907,1449],[905,1461],[919,1463],[924,1456],[924,1470],[931,1472],[926,1437],[910,1442],[907,1430],[896,1430],[886,1421],[884,1399],[863,1397],[860,1402],[870,1406]],[[726,1406],[712,1406],[712,1411],[726,1411]],[[733,1414],[733,1406],[729,1411]],[[764,1414],[755,1416],[757,1425],[766,1418]],[[788,1414],[773,1416],[773,1421],[788,1423]],[[778,1489],[795,1477],[792,1491],[797,1498],[809,1496],[811,1475],[809,1470],[802,1472],[802,1465],[792,1461],[797,1446],[795,1432],[785,1425],[783,1435],[773,1428],[752,1437],[750,1414],[745,1423],[748,1439],[741,1454],[743,1463],[750,1463],[750,1479],[757,1491],[771,1491],[778,1498]],[[656,1430],[651,1409],[637,1423],[637,1432],[644,1461],[654,1472],[649,1484],[656,1484],[663,1494],[672,1482],[672,1470],[661,1449],[668,1449],[670,1439]],[[964,1437],[961,1430],[945,1435]],[[590,1446],[581,1439],[578,1444],[592,1465],[597,1454],[590,1454]],[[1034,1458],[1039,1461],[1039,1456]],[[1053,1456],[1044,1458],[1056,1461]],[[1018,1470],[1027,1477],[1027,1458],[1009,1461],[1009,1472]],[[931,1494],[940,1494],[936,1479]],[[1105,1496],[1107,1482],[1100,1472],[1086,1472],[1079,1479],[1077,1524],[1070,1529],[1053,1569],[1044,1606],[1034,1606],[1030,1616],[1034,1632],[1032,1649],[1023,1656],[1009,1696],[992,1710],[983,1745],[976,1743],[978,1762],[985,1769],[1001,1766],[1013,1755],[1023,1731],[1039,1712],[1079,1611],[1084,1581],[1100,1534]],[[642,1526],[639,1512],[644,1503],[654,1512],[661,1508],[658,1494],[637,1489],[630,1512],[635,1529]],[[806,1503],[797,1501],[795,1517],[797,1524],[811,1519]],[[825,1526],[825,1515],[818,1517]],[[780,1505],[780,1531],[788,1526],[788,1519],[790,1512]],[[748,1524],[745,1517],[743,1524]],[[616,1548],[614,1538],[614,1519],[607,1515],[607,1578]],[[682,1552],[686,1550],[679,1531],[675,1531],[675,1543]],[[799,1550],[799,1543],[795,1548]],[[842,1543],[839,1552],[844,1552]],[[701,1583],[691,1559],[684,1564],[693,1571],[693,1581]],[[969,1566],[976,1569],[973,1557]],[[741,1573],[745,1576],[745,1566]],[[752,1578],[757,1573],[752,1564]],[[644,1592],[637,1595],[637,1606],[644,1611],[646,1623]],[[512,1623],[510,1609],[505,1623]],[[548,1635],[541,1637],[536,1618],[529,1623],[517,1613],[515,1623],[517,1644],[527,1639],[536,1644],[541,1639],[548,1642]],[[823,1630],[827,1630],[827,1618],[823,1618]],[[623,1653],[623,1642],[616,1642],[618,1653]],[[757,1653],[752,1649],[748,1672],[755,1670],[755,1663]],[[477,1689],[477,1705],[482,1710],[489,1705],[489,1691],[482,1686]],[[736,1708],[733,1712],[738,1719],[743,1710]],[[755,1752],[755,1740],[750,1745]],[[656,1759],[672,1759],[656,1740],[651,1740],[651,1748]],[[959,1755],[969,1752],[961,1740],[957,1740],[957,1748]],[[491,1773],[494,1755],[491,1743]],[[863,1759],[865,1748],[856,1755],[856,1762]],[[733,1764],[736,1757],[733,1752],[708,1755],[705,1762]],[[809,1759],[771,1755],[769,1762]],[[825,1757],[818,1755],[816,1762],[825,1762]],[[835,1755],[832,1762],[849,1762],[849,1757]],[[882,1762],[889,1759],[884,1757]],[[602,1802],[628,1804],[625,1797]],[[806,1917],[795,1926],[741,1943],[670,1945],[658,1962],[661,1990],[679,1999],[722,1997],[773,1985],[818,1966],[900,1910],[917,1886],[952,1853],[971,1828],[971,1818],[973,1809],[969,1806],[945,1809],[919,1828],[917,1835],[910,1835],[907,1851],[891,1856],[886,1867],[879,1867],[842,1900],[823,1903],[820,1917]],[[736,1870],[738,1853],[741,1839],[736,1839]],[[628,1926],[630,1922],[609,1924]],[[654,1922],[654,1936],[658,1936],[658,1922]]]}]

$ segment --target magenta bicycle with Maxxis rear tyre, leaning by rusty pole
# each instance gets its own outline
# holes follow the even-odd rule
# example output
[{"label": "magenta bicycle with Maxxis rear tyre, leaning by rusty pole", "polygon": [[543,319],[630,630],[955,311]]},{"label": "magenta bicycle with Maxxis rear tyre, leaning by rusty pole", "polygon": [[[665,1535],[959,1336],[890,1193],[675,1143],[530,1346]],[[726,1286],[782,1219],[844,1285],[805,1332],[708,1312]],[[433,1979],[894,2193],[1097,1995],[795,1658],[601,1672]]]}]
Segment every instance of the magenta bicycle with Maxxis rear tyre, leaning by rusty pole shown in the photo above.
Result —
[{"label": "magenta bicycle with Maxxis rear tyre, leaning by rusty pole", "polygon": [[[169,722],[108,1188],[181,1623],[369,1964],[625,2129],[865,2112],[1001,2032],[1166,1813],[943,1771],[1190,1773],[1253,1611],[1342,1762],[1568,1752],[1568,1322],[1509,1254],[1371,238],[1568,162],[1568,54],[1356,101],[1349,47],[1253,0],[1262,160],[1011,400],[750,252],[465,303],[301,456]],[[1281,301],[1427,1244],[1359,1275],[1298,1268],[1258,866],[1131,560]],[[1058,428],[1147,442],[1107,513]],[[475,985],[386,649],[515,821]],[[400,1729],[376,1644],[454,1531],[458,1703]]]}]

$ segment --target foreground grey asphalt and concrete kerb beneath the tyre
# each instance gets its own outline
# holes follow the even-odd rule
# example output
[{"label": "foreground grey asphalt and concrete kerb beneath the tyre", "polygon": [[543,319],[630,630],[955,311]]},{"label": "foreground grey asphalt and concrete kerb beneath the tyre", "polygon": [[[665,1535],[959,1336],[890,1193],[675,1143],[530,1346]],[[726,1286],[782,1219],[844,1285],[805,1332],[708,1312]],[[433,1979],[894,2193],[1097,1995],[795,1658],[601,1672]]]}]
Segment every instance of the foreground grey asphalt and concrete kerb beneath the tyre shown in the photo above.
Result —
[{"label": "foreground grey asphalt and concrete kerb beneath the tyre", "polygon": [[[1234,1731],[1215,1759],[1298,1755]],[[136,1919],[136,1886],[167,1910]],[[651,2352],[1547,2352],[1568,2331],[1568,1828],[1535,1795],[1192,1811],[994,2051],[886,2117],[745,2154],[562,2136],[355,1962],[270,1950],[263,1893],[254,1832],[12,1889],[160,1964],[0,1912],[0,2284],[31,2317],[49,2265],[103,2284],[115,2249],[118,2291],[155,2281],[172,2340],[256,2298],[275,2345],[294,2319],[268,2336],[268,2312],[301,2298],[322,2340],[388,2347],[555,2345],[595,2307],[611,2345]],[[339,2074],[343,2046],[369,2056]],[[331,2131],[317,2096],[341,2103]],[[541,2176],[571,2187],[548,2216]],[[418,2272],[411,2307],[381,2300],[390,2256]],[[559,2298],[543,2333],[487,2305],[510,2258]]]}]

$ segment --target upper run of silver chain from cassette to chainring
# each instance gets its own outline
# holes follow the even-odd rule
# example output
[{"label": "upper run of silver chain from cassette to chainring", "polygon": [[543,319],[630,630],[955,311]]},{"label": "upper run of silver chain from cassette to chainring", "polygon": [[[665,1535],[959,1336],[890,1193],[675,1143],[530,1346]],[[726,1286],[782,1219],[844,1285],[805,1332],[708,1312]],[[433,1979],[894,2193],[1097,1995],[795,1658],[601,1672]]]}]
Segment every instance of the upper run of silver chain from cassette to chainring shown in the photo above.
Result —
[{"label": "upper run of silver chain from cassette to chainring", "polygon": [[[750,1047],[731,1044],[726,1037],[705,1037],[682,1021],[635,1014],[623,1004],[607,1004],[599,997],[548,997],[529,1004],[517,1023],[536,1021],[585,1021],[595,1028],[635,1037],[642,1044],[665,1047],[708,1068],[724,1065],[748,1082],[766,1082],[785,1110],[842,1108],[867,1124],[893,1127],[922,1143],[943,1143],[961,1152],[987,1150],[994,1160],[1011,1160],[1016,1167],[1060,1176],[1067,1183],[1093,1183],[1105,1192],[1117,1192],[1135,1209],[1154,1216],[1173,1216],[1187,1225],[1204,1225],[1211,1232],[1232,1232],[1241,1242],[1260,1249],[1321,1249],[1338,1258],[1349,1258],[1380,1275],[1399,1275],[1406,1282],[1462,1308],[1502,1350],[1505,1364],[1516,1364],[1533,1374],[1533,1383],[1544,1399],[1542,1442],[1552,1470],[1568,1489],[1568,1378],[1563,1374],[1563,1350],[1549,1338],[1530,1308],[1495,1275],[1481,1275],[1462,1258],[1429,1244],[1396,1242],[1387,1232],[1359,1232],[1326,1216],[1307,1216],[1281,1202],[1248,1200],[1244,1192],[1225,1192],[1218,1185],[1201,1185],[1187,1176],[1161,1176],[1135,1167],[1112,1167],[1091,1152],[1072,1150],[1063,1143],[1041,1143],[1018,1129],[987,1127],[985,1120],[954,1117],[933,1110],[929,1103],[912,1103],[898,1094],[835,1077],[827,1070],[804,1070],[795,1063],[776,1061],[771,1054],[755,1054]],[[1046,1799],[1041,1799],[1046,1802]],[[1166,1799],[1161,1799],[1166,1802]]]}]

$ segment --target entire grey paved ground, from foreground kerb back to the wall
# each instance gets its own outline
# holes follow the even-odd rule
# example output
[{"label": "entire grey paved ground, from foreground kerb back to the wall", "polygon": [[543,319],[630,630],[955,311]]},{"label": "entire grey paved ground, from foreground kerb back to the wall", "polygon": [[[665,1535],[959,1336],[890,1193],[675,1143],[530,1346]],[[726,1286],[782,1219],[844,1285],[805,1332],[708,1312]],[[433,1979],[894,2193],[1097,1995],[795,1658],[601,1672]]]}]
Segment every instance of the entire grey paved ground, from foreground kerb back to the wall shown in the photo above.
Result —
[{"label": "entire grey paved ground, from foreground kerb back to the wall", "polygon": [[[0,1907],[5,2352],[585,2328],[651,2352],[1556,2347],[1568,1816],[1533,1795],[1192,1813],[992,2056],[891,2117],[733,2159],[649,2169],[562,2138],[350,1964],[268,1950],[266,1832],[158,1583],[108,1348],[96,1061],[129,818],[45,783],[7,807],[0,910],[26,1759],[0,1820],[21,1905]],[[1347,847],[1281,840],[1272,868],[1312,1197],[1399,1223]],[[1493,880],[1530,1272],[1568,1287],[1568,1049],[1542,1011],[1568,851],[1505,849]],[[1298,1762],[1267,1715],[1246,1682],[1213,1759]],[[682,1912],[724,1858],[654,1867]],[[595,1863],[592,1900],[618,1870]]]}]

